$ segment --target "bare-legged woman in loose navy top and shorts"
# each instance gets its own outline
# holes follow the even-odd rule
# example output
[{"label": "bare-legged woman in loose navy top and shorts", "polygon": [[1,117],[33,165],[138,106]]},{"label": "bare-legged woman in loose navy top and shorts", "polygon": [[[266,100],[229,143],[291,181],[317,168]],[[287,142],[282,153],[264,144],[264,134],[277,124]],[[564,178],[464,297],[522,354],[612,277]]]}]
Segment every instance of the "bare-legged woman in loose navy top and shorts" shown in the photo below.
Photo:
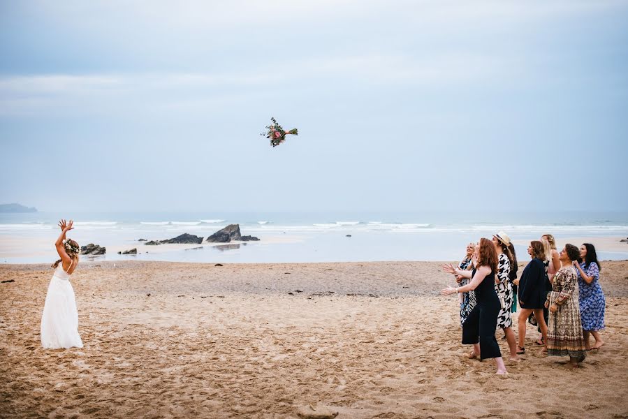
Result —
[{"label": "bare-legged woman in loose navy top and shorts", "polygon": [[530,254],[532,260],[527,264],[521,274],[519,281],[519,305],[521,311],[519,313],[519,348],[517,353],[525,353],[525,323],[530,314],[534,313],[536,321],[541,328],[541,335],[543,342],[547,341],[547,323],[543,318],[543,307],[545,306],[546,294],[546,282],[547,274],[545,270],[545,249],[543,249],[543,243],[538,240],[530,242],[530,246],[527,248],[527,253]]}]

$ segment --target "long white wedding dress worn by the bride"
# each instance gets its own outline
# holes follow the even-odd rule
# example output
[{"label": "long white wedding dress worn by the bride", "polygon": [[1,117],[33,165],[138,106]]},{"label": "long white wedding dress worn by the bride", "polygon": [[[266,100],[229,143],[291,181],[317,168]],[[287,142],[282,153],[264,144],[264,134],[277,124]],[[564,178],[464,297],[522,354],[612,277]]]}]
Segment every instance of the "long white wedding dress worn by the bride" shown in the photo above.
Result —
[{"label": "long white wedding dress worn by the bride", "polygon": [[83,347],[78,334],[74,290],[70,284],[70,274],[64,271],[62,262],[54,269],[48,286],[41,316],[41,346],[44,349]]}]

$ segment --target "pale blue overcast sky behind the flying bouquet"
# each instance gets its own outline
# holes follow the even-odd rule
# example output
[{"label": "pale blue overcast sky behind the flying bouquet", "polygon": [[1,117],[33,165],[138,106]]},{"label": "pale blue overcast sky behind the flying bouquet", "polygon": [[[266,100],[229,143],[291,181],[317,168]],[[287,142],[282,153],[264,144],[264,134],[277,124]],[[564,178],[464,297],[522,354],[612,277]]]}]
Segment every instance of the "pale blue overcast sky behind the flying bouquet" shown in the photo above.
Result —
[{"label": "pale blue overcast sky behind the flying bouquet", "polygon": [[[0,203],[628,210],[628,1],[0,0]],[[259,133],[297,127],[279,147]]]}]

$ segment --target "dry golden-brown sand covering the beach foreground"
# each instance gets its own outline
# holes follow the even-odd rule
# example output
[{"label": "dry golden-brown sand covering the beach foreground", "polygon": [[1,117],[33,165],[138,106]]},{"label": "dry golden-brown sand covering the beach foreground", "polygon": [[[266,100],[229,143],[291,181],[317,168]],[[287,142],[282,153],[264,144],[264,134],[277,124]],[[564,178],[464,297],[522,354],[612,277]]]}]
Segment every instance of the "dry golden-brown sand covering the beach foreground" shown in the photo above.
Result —
[{"label": "dry golden-brown sand covering the beach foreground", "polygon": [[[43,351],[52,270],[0,265],[0,416],[625,418],[628,263],[603,263],[606,346],[571,371],[532,344],[467,360],[439,263],[83,263],[84,348]],[[513,316],[516,319],[516,315]],[[498,332],[502,353],[506,341]]]}]

